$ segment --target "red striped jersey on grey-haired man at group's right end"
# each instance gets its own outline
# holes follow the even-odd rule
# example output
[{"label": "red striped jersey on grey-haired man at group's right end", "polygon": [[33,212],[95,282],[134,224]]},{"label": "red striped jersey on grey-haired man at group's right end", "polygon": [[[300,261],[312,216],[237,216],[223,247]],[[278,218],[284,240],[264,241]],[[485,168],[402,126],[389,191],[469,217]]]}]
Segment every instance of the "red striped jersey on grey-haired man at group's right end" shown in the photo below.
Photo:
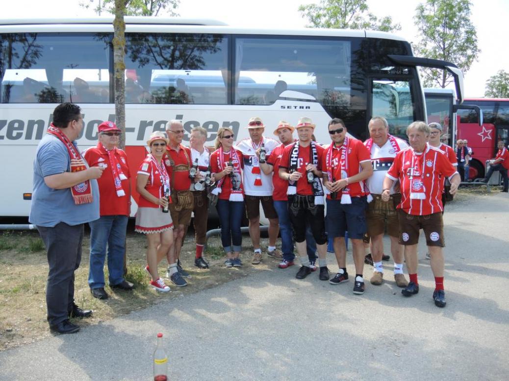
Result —
[{"label": "red striped jersey on grey-haired man at group's right end", "polygon": [[[418,169],[421,173],[420,180],[421,186],[424,187],[425,199],[410,198],[412,180],[409,177],[409,173],[412,169],[412,163],[417,163],[417,160],[414,160],[412,148],[398,152],[386,175],[394,181],[400,180],[401,203],[398,205],[398,209],[403,209],[405,213],[412,215],[428,215],[443,211],[442,177],[447,176],[450,178],[455,173],[458,173],[456,168],[453,167],[438,148],[427,144],[425,152],[421,154],[424,155],[421,161],[422,167],[416,168],[414,166],[413,168]],[[415,155],[415,157],[418,156]]]}]

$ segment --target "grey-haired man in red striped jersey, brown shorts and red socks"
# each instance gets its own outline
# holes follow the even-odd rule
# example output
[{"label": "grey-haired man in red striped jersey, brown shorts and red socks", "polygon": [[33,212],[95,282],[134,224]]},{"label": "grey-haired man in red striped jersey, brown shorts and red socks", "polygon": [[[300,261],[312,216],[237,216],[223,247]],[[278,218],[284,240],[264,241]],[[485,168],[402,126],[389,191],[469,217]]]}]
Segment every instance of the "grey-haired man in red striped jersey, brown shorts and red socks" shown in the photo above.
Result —
[{"label": "grey-haired man in red striped jersey, brown shorts and red socks", "polygon": [[431,269],[435,276],[433,300],[436,306],[445,307],[442,177],[449,178],[452,195],[457,192],[461,178],[442,151],[428,144],[430,128],[425,122],[411,123],[407,127],[407,136],[410,148],[396,155],[382,189],[382,200],[389,201],[391,186],[395,181],[400,181],[401,203],[398,205],[400,243],[406,246],[405,258],[410,277],[410,282],[401,293],[404,296],[412,296],[419,292],[417,243],[419,230],[422,229],[431,254]]}]

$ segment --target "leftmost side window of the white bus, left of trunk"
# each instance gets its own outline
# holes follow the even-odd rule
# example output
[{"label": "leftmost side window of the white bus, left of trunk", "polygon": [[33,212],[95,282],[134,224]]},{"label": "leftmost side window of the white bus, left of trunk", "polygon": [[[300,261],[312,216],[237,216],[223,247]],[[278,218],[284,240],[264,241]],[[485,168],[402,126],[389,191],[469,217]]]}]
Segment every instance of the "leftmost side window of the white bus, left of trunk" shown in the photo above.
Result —
[{"label": "leftmost side window of the white bus, left of trunk", "polygon": [[0,35],[0,102],[109,103],[110,35]]}]

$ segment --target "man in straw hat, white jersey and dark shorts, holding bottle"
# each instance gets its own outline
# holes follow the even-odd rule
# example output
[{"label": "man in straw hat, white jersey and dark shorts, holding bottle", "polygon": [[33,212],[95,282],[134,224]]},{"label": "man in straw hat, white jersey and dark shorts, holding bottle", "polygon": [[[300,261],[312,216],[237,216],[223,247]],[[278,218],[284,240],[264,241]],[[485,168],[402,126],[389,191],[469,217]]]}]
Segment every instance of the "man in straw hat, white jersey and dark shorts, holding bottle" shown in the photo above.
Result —
[{"label": "man in straw hat, white jersey and dark shorts, holding bottle", "polygon": [[269,219],[269,247],[267,255],[281,260],[280,250],[276,249],[276,238],[279,233],[277,213],[272,200],[272,176],[260,170],[260,159],[257,150],[265,149],[266,156],[279,144],[263,136],[265,125],[259,117],[252,117],[246,127],[250,138],[237,143],[236,149],[242,152],[244,161],[243,186],[247,218],[249,219],[249,236],[254,248],[251,263],[257,265],[262,260],[260,249],[260,202],[263,212]]}]

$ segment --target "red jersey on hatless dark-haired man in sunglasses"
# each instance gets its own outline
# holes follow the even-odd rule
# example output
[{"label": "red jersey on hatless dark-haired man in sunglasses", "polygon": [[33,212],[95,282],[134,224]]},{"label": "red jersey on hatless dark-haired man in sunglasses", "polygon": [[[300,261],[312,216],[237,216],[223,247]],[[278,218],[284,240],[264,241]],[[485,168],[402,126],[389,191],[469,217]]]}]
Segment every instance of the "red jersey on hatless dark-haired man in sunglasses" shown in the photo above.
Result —
[{"label": "red jersey on hatless dark-haired man in sunglasses", "polygon": [[[343,149],[345,149],[344,146],[332,148],[332,176],[334,181],[341,179],[340,156]],[[327,170],[327,152],[328,148],[324,151],[322,156],[322,169],[324,171]],[[347,177],[354,176],[360,172],[360,163],[371,163],[370,151],[368,151],[366,146],[357,139],[349,139],[347,156]],[[329,179],[329,181],[332,181],[332,179]],[[366,195],[364,183],[362,181],[353,182],[347,186],[350,189],[350,197]],[[327,198],[330,200],[330,195],[327,195]]]}]

